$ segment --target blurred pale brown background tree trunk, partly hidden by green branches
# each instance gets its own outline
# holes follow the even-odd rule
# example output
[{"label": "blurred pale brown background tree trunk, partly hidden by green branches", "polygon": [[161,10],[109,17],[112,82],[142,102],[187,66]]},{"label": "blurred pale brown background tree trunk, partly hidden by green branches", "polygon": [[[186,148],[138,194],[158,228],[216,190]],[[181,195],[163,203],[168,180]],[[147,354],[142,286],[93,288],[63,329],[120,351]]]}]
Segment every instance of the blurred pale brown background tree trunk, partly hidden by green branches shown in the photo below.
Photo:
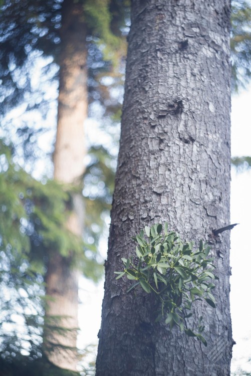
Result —
[{"label": "blurred pale brown background tree trunk, partly hidden by green branches", "polygon": [[[84,120],[87,117],[88,105],[86,27],[81,4],[64,0],[62,14],[54,177],[64,183],[77,184],[84,172]],[[78,213],[82,211],[79,207],[80,201],[78,197],[74,198],[75,210],[66,224],[67,228],[78,236],[82,233],[81,213]],[[49,255],[46,274],[47,327],[44,339],[47,348],[49,342],[56,345],[47,351],[54,364],[76,370],[78,272],[71,266],[73,253],[74,250],[69,250],[69,257],[63,257],[57,250],[52,250]],[[51,325],[62,327],[63,330],[53,330]]]}]

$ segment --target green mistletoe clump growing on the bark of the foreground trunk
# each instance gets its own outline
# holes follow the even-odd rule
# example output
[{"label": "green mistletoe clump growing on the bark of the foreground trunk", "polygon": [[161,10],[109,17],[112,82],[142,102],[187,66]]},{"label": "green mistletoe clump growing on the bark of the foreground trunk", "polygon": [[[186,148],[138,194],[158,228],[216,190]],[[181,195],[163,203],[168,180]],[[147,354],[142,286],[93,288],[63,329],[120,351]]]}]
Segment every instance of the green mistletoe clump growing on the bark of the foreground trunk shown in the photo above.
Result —
[{"label": "green mistletoe clump growing on the bark of the foreground trunk", "polygon": [[215,285],[210,280],[218,278],[213,274],[214,258],[208,258],[210,247],[200,240],[199,248],[194,250],[194,242],[183,243],[177,233],[168,232],[167,223],[164,235],[161,232],[161,224],[145,226],[132,238],[137,243],[137,257],[122,258],[124,270],[115,272],[116,279],[127,275],[129,280],[135,281],[128,292],[141,287],[148,294],[153,293],[160,303],[156,321],[164,316],[171,329],[178,325],[181,331],[206,346],[201,334],[204,330],[202,316],[197,333],[187,327],[185,319],[192,316],[192,303],[196,300],[205,300],[215,308],[211,293]]}]

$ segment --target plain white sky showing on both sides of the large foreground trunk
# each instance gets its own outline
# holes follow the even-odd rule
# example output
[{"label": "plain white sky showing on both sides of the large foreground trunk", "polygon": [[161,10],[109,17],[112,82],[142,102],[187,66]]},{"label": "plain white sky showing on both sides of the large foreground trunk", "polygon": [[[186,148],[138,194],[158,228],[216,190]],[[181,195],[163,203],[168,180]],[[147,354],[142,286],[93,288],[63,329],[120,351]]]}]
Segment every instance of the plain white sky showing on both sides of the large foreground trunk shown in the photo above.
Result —
[{"label": "plain white sky showing on both sides of the large foreground trunk", "polygon": [[[251,155],[251,85],[249,90],[232,96],[231,109],[231,153],[232,156]],[[92,137],[92,135],[90,135]],[[251,170],[231,173],[231,223],[239,223],[231,231],[230,264],[230,304],[233,339],[233,358],[231,370],[241,367],[251,371]],[[249,233],[250,231],[250,233]],[[103,245],[103,252],[106,244]],[[79,296],[82,304],[79,309],[79,321],[82,329],[79,335],[79,347],[97,343],[97,333],[101,323],[101,305],[104,281],[95,286],[81,279]]]}]

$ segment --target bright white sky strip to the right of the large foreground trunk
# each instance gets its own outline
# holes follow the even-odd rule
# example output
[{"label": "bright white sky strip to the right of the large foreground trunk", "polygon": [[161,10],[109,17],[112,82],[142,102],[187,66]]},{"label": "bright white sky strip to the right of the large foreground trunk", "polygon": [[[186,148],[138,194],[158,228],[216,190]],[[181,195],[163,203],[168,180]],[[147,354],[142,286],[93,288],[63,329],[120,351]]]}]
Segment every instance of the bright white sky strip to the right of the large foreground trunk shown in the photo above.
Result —
[{"label": "bright white sky strip to the right of the large foreground trunk", "polygon": [[[251,86],[246,92],[232,97],[231,153],[251,155]],[[236,172],[231,176],[231,223],[239,223],[231,231],[230,304],[232,317],[233,346],[232,369],[238,364],[251,371],[251,170]]]}]

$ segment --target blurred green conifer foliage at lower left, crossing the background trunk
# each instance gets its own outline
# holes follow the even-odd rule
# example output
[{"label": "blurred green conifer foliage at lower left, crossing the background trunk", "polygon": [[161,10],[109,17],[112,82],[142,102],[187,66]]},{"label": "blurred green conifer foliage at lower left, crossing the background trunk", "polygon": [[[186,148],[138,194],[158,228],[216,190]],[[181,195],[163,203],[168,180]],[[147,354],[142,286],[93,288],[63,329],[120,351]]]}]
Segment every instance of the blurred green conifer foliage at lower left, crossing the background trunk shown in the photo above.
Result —
[{"label": "blurred green conifer foliage at lower left, crossing the background trunk", "polygon": [[[8,373],[9,363],[14,362],[15,369],[16,361],[20,372],[28,360],[41,366],[44,274],[54,249],[65,257],[70,250],[73,263],[86,277],[98,280],[103,274],[97,248],[89,247],[65,227],[76,187],[35,180],[14,162],[13,150],[0,142],[0,362],[7,367],[5,375],[12,374]],[[104,197],[105,191],[100,199]],[[40,374],[40,370],[36,372]]]}]

